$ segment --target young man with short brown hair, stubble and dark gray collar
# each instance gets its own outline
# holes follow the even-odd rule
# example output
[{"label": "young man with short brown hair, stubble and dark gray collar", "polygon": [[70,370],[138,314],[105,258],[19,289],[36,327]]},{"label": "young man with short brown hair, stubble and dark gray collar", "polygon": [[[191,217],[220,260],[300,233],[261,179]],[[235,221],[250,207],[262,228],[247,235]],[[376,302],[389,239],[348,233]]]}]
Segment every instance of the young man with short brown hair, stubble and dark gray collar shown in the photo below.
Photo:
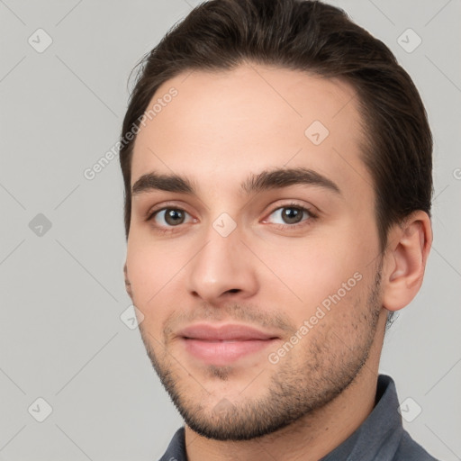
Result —
[{"label": "young man with short brown hair, stubble and dark gray collar", "polygon": [[381,41],[321,2],[212,0],[144,59],[124,267],[185,420],[162,460],[433,460],[378,375],[432,241],[432,140]]}]

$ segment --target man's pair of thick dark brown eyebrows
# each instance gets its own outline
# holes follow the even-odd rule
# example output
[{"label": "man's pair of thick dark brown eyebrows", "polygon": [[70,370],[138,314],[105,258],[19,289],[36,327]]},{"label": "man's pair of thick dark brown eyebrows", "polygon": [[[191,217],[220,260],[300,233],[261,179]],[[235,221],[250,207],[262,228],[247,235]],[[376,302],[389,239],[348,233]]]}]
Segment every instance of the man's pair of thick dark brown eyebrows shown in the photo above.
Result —
[{"label": "man's pair of thick dark brown eyebrows", "polygon": [[[305,167],[276,168],[251,174],[240,184],[240,194],[258,194],[271,189],[281,189],[290,185],[317,185],[341,195],[339,186],[331,179]],[[132,195],[152,191],[197,195],[194,181],[187,176],[162,175],[150,172],[140,176],[131,188]]]}]

